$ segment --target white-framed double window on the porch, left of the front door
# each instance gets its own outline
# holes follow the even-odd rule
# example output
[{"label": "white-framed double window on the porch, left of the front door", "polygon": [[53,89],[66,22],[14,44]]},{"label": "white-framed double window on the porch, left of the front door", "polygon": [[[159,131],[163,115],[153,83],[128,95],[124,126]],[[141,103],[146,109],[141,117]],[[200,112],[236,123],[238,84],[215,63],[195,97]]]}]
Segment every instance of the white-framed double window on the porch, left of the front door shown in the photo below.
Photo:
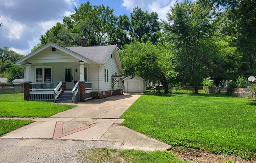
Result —
[{"label": "white-framed double window on the porch, left of the front door", "polygon": [[51,82],[51,68],[36,68],[36,82]]}]

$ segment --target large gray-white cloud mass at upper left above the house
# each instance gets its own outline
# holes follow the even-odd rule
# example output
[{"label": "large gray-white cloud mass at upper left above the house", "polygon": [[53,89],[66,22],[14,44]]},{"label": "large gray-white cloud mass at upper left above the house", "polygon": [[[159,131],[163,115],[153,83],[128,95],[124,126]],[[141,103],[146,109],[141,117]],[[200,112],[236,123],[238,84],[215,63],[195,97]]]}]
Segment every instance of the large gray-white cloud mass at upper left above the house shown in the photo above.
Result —
[{"label": "large gray-white cloud mass at upper left above the house", "polygon": [[79,0],[0,0],[0,47],[29,54],[47,29],[72,14]]}]

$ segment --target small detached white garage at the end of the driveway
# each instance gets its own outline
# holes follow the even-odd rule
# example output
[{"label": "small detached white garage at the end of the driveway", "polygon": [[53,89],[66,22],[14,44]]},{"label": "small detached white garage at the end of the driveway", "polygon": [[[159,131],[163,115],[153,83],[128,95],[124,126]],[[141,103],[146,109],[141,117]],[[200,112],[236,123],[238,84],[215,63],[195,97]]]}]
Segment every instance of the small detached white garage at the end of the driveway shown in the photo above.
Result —
[{"label": "small detached white garage at the end of the driveway", "polygon": [[145,92],[146,91],[146,82],[143,78],[135,76],[132,78],[128,76],[124,78],[124,92]]}]

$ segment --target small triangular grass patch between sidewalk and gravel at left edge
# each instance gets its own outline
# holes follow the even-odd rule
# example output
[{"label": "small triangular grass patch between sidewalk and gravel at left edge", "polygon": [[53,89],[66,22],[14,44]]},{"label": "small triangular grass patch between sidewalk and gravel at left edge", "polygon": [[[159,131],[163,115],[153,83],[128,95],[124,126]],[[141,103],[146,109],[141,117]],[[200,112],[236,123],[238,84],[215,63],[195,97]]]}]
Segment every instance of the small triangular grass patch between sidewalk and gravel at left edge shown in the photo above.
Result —
[{"label": "small triangular grass patch between sidewalk and gravel at left edge", "polygon": [[30,120],[0,120],[0,136],[32,122]]}]

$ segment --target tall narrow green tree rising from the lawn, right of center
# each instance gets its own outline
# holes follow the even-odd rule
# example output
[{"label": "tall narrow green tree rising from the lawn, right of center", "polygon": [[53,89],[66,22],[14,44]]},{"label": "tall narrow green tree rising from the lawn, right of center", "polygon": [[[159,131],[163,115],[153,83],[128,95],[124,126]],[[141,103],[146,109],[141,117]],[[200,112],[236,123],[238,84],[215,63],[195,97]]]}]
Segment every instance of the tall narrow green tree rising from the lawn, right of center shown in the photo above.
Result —
[{"label": "tall narrow green tree rising from the lawn, right of center", "polygon": [[206,74],[202,58],[207,55],[204,42],[211,36],[210,12],[211,7],[199,0],[176,2],[163,24],[165,37],[176,47],[177,67],[190,75],[195,93],[198,93],[199,82]]}]

